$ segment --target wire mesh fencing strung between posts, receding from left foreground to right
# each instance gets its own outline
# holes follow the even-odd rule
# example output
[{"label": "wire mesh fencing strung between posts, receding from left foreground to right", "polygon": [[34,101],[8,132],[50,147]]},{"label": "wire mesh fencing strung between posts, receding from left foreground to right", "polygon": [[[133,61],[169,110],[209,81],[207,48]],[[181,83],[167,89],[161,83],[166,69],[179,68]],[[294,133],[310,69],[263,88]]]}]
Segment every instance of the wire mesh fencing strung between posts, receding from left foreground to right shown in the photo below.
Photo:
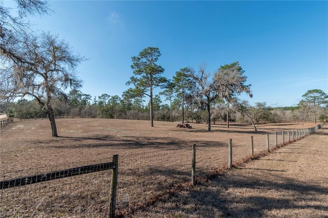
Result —
[{"label": "wire mesh fencing strung between posts, receding from left foreground to right", "polygon": [[[249,134],[232,137],[232,163],[242,162],[253,155],[299,140],[316,132],[313,128],[270,134]],[[269,139],[269,141],[268,141]],[[228,141],[196,145],[196,180],[229,167]],[[154,148],[119,156],[116,216],[132,216],[181,186],[191,184],[192,145],[175,148]],[[1,180],[35,175],[94,162],[30,168],[6,172]],[[109,210],[111,171],[99,171],[60,180],[41,182],[1,190],[1,217],[107,217]]]}]

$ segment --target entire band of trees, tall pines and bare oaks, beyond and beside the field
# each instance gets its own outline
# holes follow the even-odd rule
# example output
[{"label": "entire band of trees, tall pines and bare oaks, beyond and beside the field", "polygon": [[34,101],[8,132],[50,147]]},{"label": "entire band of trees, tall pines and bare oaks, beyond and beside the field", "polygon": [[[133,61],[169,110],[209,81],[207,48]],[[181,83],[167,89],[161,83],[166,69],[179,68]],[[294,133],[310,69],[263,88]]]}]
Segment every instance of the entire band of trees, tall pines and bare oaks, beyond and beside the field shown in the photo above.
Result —
[{"label": "entire band of trees, tall pines and bare oaks, beyond and beside the field", "polygon": [[[293,118],[286,118],[283,110],[270,108],[265,102],[251,106],[238,99],[241,93],[253,96],[251,84],[238,61],[224,64],[215,72],[208,72],[206,64],[197,70],[185,67],[173,78],[163,76],[165,69],[157,64],[161,56],[158,48],[149,47],[132,57],[133,76],[126,82],[132,87],[122,96],[81,93],[81,80],[76,67],[87,58],[73,52],[69,44],[50,32],[31,30],[30,14],[47,14],[47,1],[16,0],[17,17],[12,8],[0,4],[0,103],[1,110],[18,118],[47,117],[52,136],[57,137],[55,116],[88,118],[186,120],[208,124],[248,120],[254,126],[260,122],[302,121],[312,115],[316,122],[326,119],[327,95],[321,90],[310,90],[302,97]],[[1,2],[0,2],[1,3]],[[160,88],[159,95],[154,89]],[[67,94],[67,91],[69,93]],[[160,95],[170,104],[162,104]],[[149,101],[145,104],[145,97]],[[17,100],[18,99],[18,100]],[[148,115],[147,115],[148,113]],[[292,113],[292,114],[293,114]]]}]

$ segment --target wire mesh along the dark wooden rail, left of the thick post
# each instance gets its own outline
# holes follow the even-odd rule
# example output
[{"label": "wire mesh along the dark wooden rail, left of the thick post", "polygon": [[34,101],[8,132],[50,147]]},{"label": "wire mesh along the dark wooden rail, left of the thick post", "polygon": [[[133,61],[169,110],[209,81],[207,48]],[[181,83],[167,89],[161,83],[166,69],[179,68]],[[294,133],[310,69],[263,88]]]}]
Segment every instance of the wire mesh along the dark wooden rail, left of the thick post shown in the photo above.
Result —
[{"label": "wire mesh along the dark wooden rail, left of the thick post", "polygon": [[[111,161],[111,160],[103,160]],[[6,172],[1,180],[95,164],[71,163]],[[111,170],[0,190],[0,217],[99,217],[109,212]]]}]

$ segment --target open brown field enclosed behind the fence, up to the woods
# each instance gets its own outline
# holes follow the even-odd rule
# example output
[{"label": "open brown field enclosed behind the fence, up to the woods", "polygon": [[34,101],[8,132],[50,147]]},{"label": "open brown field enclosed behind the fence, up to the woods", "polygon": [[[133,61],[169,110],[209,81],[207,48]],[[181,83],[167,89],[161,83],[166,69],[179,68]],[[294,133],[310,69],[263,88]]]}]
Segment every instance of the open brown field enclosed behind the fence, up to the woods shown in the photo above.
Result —
[{"label": "open brown field enclosed behind the fence, up to the woods", "polygon": [[[251,125],[236,124],[232,124],[229,129],[225,126],[212,125],[212,131],[208,132],[206,124],[194,123],[191,124],[193,126],[192,129],[177,128],[175,127],[176,123],[170,122],[155,122],[155,127],[150,127],[149,121],[135,120],[58,119],[56,123],[58,135],[60,136],[58,138],[51,137],[51,128],[48,120],[15,121],[15,123],[1,129],[0,172],[1,175],[4,175],[2,180],[27,176],[27,172],[28,174],[35,174],[42,170],[57,170],[60,167],[66,166],[67,163],[76,163],[79,166],[83,163],[94,161],[111,161],[112,155],[118,154],[119,187],[117,190],[117,213],[128,217],[144,217],[145,214],[148,214],[150,217],[163,216],[164,214],[173,217],[180,217],[179,215],[182,217],[187,215],[190,217],[207,216],[204,214],[205,211],[203,209],[199,208],[199,211],[197,211],[197,206],[190,206],[188,199],[176,204],[189,205],[191,208],[171,208],[175,212],[165,209],[167,208],[167,202],[172,203],[171,201],[175,201],[174,196],[179,196],[181,193],[191,193],[191,191],[196,191],[195,193],[197,193],[197,190],[202,189],[201,186],[194,188],[189,185],[191,179],[192,144],[197,145],[197,181],[199,184],[204,184],[209,182],[207,180],[209,177],[207,176],[215,174],[215,172],[226,167],[228,163],[228,140],[230,138],[233,139],[233,160],[241,161],[250,156],[250,136],[254,137],[254,152],[258,154],[265,150],[265,134],[270,134],[270,146],[273,147],[274,132],[314,126],[313,123],[308,123],[304,126],[299,123],[260,125],[258,127],[259,131],[255,133]],[[279,140],[278,143],[281,144],[281,136],[279,136]],[[288,162],[283,162],[283,164],[285,163]],[[83,196],[89,199],[86,203],[87,206],[79,203],[78,207],[72,206],[67,210],[59,210],[59,208],[63,208],[63,205],[55,207],[52,205],[54,208],[49,210],[49,205],[44,206],[47,204],[37,202],[38,212],[33,211],[33,214],[39,214],[40,217],[49,215],[63,216],[63,214],[69,217],[106,216],[108,207],[106,204],[106,192],[109,192],[109,188],[105,188],[99,194],[100,191],[95,187],[96,185],[93,185],[99,184],[99,187],[106,185],[104,177],[107,178],[105,180],[108,182],[110,177],[108,173],[103,172],[98,173],[98,176],[94,176],[91,185],[88,184],[92,186],[91,190],[97,193],[96,196],[85,197],[85,193],[78,190],[75,191],[76,194],[72,199],[78,199],[77,202],[80,202],[80,197]],[[85,180],[87,183],[90,183],[90,180]],[[74,187],[76,187],[75,183],[81,181],[84,181],[84,179],[73,179],[73,181],[71,179],[65,185],[52,185],[51,188],[57,190],[60,186],[60,188],[66,188],[64,191],[61,191],[66,193],[73,191]],[[42,192],[44,187],[38,187],[36,190]],[[29,196],[34,194],[31,190],[27,192]],[[58,192],[58,190],[55,192]],[[84,189],[84,192],[86,192],[86,189]],[[103,194],[105,195],[103,196]],[[10,196],[8,200],[15,201],[12,195],[14,194],[8,194]],[[204,198],[206,195],[203,195]],[[67,200],[70,197],[63,195],[56,198]],[[181,199],[183,198],[181,197]],[[216,202],[215,199],[209,201]],[[163,204],[162,209],[160,202]],[[216,204],[214,202],[213,204]],[[18,210],[28,211],[28,207],[35,206],[25,205],[24,209],[13,208],[11,212],[15,213]],[[96,211],[94,208],[96,208]],[[147,211],[147,208],[153,208],[154,210],[150,212],[149,210]],[[181,211],[177,210],[178,208]],[[5,209],[2,208],[0,212],[7,214],[8,210],[6,209],[5,212]],[[212,215],[225,214],[222,211],[221,213],[220,211],[213,212]],[[24,214],[20,215],[24,216]]]}]

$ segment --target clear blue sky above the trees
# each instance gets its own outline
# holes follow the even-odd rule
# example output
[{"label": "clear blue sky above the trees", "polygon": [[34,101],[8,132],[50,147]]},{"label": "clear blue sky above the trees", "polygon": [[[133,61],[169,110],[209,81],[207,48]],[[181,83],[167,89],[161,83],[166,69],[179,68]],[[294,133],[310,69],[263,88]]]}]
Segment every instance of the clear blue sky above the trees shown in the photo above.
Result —
[{"label": "clear blue sky above the trees", "polygon": [[181,68],[207,63],[213,74],[239,61],[253,92],[240,98],[252,105],[295,106],[308,90],[328,93],[327,1],[49,3],[54,13],[32,17],[34,28],[89,58],[77,70],[92,98],[129,89],[131,57],[147,47],[159,48],[169,79]]}]

